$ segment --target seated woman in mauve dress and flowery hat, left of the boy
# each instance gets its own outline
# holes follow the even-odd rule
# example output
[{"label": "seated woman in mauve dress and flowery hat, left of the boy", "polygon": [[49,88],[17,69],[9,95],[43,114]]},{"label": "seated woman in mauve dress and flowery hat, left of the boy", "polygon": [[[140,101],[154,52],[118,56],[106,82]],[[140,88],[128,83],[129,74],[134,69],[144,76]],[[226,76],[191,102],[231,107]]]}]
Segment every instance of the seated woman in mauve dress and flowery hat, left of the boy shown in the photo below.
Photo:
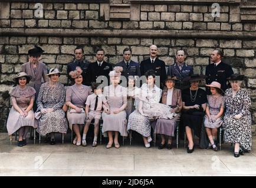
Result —
[{"label": "seated woman in mauve dress and flowery hat, left of the boy", "polygon": [[86,113],[84,111],[87,96],[91,94],[91,88],[83,85],[83,70],[77,66],[76,70],[69,73],[74,85],[66,90],[66,105],[68,106],[67,119],[70,129],[76,133],[73,144],[81,145],[80,125],[84,125],[86,121]]}]

